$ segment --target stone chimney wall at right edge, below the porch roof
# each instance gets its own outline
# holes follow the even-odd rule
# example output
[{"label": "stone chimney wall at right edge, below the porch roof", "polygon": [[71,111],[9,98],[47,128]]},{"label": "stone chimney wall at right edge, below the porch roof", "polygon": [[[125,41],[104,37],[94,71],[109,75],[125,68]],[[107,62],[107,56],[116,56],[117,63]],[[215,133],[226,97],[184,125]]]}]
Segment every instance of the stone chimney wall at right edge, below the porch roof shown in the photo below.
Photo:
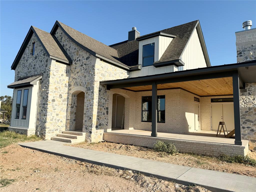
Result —
[{"label": "stone chimney wall at right edge, below the porch roof", "polygon": [[249,149],[256,150],[256,83],[240,89],[242,139],[249,140]]}]

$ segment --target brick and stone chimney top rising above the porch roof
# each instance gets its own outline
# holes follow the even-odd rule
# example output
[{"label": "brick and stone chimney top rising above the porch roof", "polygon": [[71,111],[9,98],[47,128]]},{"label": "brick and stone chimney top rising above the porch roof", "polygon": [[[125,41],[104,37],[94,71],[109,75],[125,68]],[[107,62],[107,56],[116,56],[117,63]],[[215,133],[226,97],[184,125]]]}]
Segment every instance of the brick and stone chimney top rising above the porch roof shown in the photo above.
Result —
[{"label": "brick and stone chimney top rising above the porch roof", "polygon": [[256,59],[256,28],[236,32],[237,62]]}]

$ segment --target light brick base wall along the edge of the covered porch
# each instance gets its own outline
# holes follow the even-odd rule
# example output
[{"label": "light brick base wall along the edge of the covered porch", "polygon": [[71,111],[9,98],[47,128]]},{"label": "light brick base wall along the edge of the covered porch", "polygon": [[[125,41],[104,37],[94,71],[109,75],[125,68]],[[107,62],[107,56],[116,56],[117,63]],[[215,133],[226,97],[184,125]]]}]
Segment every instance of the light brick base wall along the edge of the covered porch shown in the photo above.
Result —
[{"label": "light brick base wall along the edge of the covered porch", "polygon": [[103,139],[112,143],[122,143],[149,148],[154,148],[154,144],[156,143],[156,141],[160,140],[163,142],[173,143],[180,152],[213,156],[218,156],[221,154],[244,156],[248,153],[247,140],[242,140],[242,146],[239,146],[118,133],[104,133]]}]

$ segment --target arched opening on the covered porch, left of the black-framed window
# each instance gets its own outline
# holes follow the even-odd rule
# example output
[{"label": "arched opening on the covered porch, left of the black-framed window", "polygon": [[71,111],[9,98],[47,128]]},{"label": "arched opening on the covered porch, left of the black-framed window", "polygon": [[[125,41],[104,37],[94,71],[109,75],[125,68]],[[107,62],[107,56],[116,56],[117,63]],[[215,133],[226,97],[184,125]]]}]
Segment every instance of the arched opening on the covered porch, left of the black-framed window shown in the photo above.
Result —
[{"label": "arched opening on the covered porch, left of the black-framed window", "polygon": [[120,94],[113,94],[112,130],[124,129],[125,98]]}]

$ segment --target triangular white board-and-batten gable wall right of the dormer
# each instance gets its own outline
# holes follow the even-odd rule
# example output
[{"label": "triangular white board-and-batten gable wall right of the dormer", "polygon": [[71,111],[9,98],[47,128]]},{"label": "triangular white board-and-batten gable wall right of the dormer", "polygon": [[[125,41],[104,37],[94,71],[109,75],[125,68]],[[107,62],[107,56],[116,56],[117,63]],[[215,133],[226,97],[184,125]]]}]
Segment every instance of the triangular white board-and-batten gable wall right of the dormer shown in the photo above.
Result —
[{"label": "triangular white board-and-batten gable wall right of the dormer", "polygon": [[197,30],[192,33],[181,60],[185,63],[185,66],[178,67],[179,71],[207,67]]}]

